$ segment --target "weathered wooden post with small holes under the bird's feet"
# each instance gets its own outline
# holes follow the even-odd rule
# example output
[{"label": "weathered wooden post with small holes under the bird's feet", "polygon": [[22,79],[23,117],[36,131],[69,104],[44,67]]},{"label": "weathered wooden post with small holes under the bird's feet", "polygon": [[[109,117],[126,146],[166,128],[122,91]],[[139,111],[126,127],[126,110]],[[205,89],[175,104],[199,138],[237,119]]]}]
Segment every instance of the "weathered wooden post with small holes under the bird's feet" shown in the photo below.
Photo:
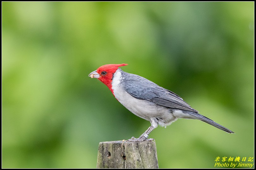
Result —
[{"label": "weathered wooden post with small holes under the bird's feet", "polygon": [[97,168],[158,168],[155,141],[100,142]]}]

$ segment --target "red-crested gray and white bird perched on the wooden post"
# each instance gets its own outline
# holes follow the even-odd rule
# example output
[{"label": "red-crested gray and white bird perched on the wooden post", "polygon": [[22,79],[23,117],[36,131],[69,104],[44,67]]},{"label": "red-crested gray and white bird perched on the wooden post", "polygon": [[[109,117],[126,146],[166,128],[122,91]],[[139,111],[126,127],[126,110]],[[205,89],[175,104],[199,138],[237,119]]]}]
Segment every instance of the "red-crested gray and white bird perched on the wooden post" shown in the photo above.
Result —
[{"label": "red-crested gray and white bird perched on the wooden post", "polygon": [[234,133],[213,120],[201,115],[180,96],[136,74],[126,73],[119,67],[128,64],[106,64],[88,76],[107,85],[114,97],[130,112],[148,120],[151,126],[138,138],[128,142],[152,141],[149,133],[158,125],[166,127],[178,118],[198,119],[227,133]]}]

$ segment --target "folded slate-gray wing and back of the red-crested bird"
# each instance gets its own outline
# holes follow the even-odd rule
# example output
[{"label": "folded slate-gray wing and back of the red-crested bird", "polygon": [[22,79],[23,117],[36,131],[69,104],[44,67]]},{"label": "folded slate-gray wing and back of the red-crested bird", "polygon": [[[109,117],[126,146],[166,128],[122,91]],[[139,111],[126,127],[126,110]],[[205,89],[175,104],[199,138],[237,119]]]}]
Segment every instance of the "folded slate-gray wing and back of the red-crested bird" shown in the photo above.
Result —
[{"label": "folded slate-gray wing and back of the red-crested bird", "polygon": [[157,105],[165,107],[198,112],[183,101],[180,96],[156,85],[150,80],[129,73],[126,73],[124,77],[121,84],[124,86],[127,93],[137,99],[152,101]]}]

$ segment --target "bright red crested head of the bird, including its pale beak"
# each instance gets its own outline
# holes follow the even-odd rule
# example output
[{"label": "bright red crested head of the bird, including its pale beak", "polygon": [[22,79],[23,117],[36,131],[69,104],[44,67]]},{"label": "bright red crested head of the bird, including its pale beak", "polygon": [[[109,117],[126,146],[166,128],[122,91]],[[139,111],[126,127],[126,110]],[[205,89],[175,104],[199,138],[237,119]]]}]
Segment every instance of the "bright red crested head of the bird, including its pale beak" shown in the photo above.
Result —
[{"label": "bright red crested head of the bird, including its pale beak", "polygon": [[113,74],[116,72],[118,67],[121,66],[126,66],[128,64],[106,64],[101,67],[99,67],[97,70],[91,72],[89,76],[91,78],[97,78],[99,79],[102,83],[107,85],[107,87],[112,91],[112,79],[113,79]]}]

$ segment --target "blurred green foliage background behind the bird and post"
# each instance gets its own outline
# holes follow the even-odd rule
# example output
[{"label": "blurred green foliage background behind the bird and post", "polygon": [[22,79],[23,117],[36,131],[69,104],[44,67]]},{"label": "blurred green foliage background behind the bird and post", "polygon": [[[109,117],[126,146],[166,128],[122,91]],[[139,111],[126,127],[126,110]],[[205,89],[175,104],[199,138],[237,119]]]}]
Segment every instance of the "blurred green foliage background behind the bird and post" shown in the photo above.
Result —
[{"label": "blurred green foliage background behind the bird and post", "polygon": [[141,135],[150,123],[88,77],[110,63],[235,132],[158,127],[159,167],[254,157],[254,2],[2,2],[2,167],[95,168],[99,142]]}]

